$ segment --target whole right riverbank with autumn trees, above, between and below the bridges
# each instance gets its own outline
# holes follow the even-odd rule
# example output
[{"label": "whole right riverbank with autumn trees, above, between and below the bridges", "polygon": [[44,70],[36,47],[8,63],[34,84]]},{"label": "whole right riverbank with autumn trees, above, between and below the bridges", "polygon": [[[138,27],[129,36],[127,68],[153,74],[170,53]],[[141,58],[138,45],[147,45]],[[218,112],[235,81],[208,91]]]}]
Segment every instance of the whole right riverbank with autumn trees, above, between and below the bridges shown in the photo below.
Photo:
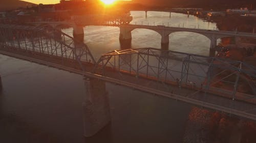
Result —
[{"label": "whole right riverbank with autumn trees, above, between and below the bridges", "polygon": [[[212,22],[216,22],[221,31],[238,31],[251,33],[256,29],[256,19],[241,16],[212,17]],[[241,38],[241,42],[250,43],[234,45],[234,39],[222,38],[221,47],[217,56],[231,60],[243,61],[254,65],[256,61],[255,39]],[[247,47],[246,47],[247,46]],[[244,84],[246,85],[246,84]],[[238,91],[246,87],[239,87]],[[221,85],[223,87],[223,85]],[[229,117],[220,112],[209,111],[206,109],[193,107],[189,113],[187,128],[185,130],[184,143],[253,143],[256,140],[256,123],[244,119]]]}]

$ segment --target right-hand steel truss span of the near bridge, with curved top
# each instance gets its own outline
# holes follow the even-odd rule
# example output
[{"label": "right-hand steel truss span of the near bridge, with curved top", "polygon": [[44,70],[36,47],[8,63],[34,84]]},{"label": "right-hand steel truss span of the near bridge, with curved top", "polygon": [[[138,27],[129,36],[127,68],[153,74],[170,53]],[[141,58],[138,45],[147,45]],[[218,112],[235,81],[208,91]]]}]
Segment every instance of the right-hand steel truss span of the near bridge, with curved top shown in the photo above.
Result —
[{"label": "right-hand steel truss span of the near bridge, with curved top", "polygon": [[256,67],[243,62],[140,48],[103,54],[94,72],[163,91],[168,97],[189,103],[236,111],[235,115],[245,117],[249,112],[253,116],[249,118],[256,119]]}]

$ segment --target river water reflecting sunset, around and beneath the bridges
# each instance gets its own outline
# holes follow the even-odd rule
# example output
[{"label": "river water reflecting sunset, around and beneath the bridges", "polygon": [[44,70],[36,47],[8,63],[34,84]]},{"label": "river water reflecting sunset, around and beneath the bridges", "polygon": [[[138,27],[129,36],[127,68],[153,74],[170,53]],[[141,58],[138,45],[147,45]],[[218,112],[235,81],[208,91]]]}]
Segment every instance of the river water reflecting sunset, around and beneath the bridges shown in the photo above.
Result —
[{"label": "river water reflecting sunset, around and beneath the bridges", "polygon": [[[133,11],[133,24],[169,25],[213,30],[216,23],[185,14]],[[63,30],[72,35],[72,29]],[[119,28],[87,26],[84,42],[98,59],[122,49]],[[210,40],[188,32],[170,34],[169,50],[209,54]],[[161,37],[151,30],[132,32],[131,48],[161,48]],[[83,138],[81,75],[0,55],[0,142],[182,142],[191,106],[172,99],[106,83],[112,123],[92,138]],[[13,122],[9,123],[8,120]],[[10,125],[10,126],[9,126]],[[22,126],[22,127],[20,127]],[[25,128],[25,129],[24,129]],[[25,132],[25,133],[24,133]],[[27,132],[27,133],[26,133]],[[39,139],[38,139],[39,138]],[[43,139],[40,139],[43,138]],[[36,141],[35,141],[36,140]],[[51,142],[51,141],[47,141]]]}]

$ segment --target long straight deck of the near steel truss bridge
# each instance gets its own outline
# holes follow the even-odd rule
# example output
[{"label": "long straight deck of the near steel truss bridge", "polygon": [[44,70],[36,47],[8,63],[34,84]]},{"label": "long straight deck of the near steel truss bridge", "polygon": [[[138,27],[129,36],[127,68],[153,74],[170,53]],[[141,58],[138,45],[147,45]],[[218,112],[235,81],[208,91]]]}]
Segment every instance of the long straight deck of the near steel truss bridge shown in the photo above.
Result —
[{"label": "long straight deck of the near steel truss bridge", "polygon": [[35,51],[28,52],[17,48],[0,47],[0,53],[13,56],[39,64],[44,64],[58,69],[74,72],[88,77],[98,78],[108,82],[125,85],[127,87],[145,91],[148,93],[173,98],[184,101],[193,105],[206,107],[230,113],[232,115],[256,120],[256,105],[244,101],[232,100],[213,93],[205,93],[204,91],[197,91],[190,86],[179,88],[175,82],[170,84],[157,82],[152,78],[138,78],[135,75],[126,74],[125,72],[116,72],[113,70],[106,70],[104,76],[93,74],[91,71],[94,66],[92,63],[83,62],[86,66],[86,71],[82,71],[79,64],[75,60],[63,60],[58,56],[49,56],[48,54],[39,53]]}]

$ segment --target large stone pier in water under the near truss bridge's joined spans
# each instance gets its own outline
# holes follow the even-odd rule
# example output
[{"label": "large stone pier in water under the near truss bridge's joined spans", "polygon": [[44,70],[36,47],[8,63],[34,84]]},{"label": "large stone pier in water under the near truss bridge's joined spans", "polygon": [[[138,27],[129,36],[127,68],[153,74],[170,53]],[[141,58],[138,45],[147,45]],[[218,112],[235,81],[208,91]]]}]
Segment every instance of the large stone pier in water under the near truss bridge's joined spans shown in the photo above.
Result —
[{"label": "large stone pier in water under the near truss bridge's joined spans", "polygon": [[105,82],[94,78],[85,79],[86,97],[83,101],[84,136],[95,135],[111,121],[108,93]]}]

